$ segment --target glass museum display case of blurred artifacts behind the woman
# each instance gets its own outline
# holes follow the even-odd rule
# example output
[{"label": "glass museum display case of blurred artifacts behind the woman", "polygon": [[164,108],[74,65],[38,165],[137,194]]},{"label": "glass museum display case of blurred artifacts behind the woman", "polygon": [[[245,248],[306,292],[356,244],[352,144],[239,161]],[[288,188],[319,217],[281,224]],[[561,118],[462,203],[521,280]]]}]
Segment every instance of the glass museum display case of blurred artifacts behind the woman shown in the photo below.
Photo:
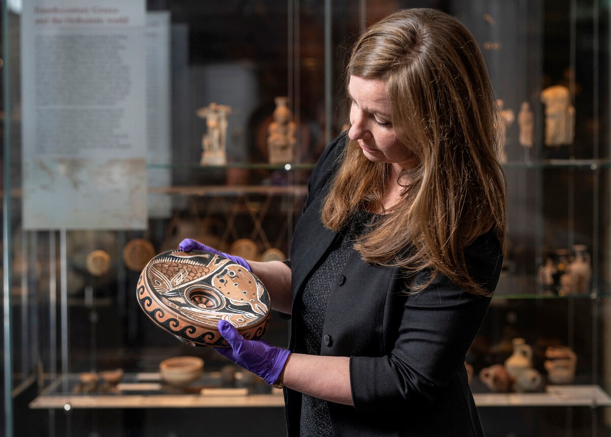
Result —
[{"label": "glass museum display case of blurred artifacts behind the woman", "polygon": [[474,33],[505,120],[505,261],[466,356],[486,435],[611,434],[606,2],[105,3],[2,2],[4,435],[285,435],[282,391],[152,323],[139,274],[183,238],[285,259],[350,44],[408,7]]}]

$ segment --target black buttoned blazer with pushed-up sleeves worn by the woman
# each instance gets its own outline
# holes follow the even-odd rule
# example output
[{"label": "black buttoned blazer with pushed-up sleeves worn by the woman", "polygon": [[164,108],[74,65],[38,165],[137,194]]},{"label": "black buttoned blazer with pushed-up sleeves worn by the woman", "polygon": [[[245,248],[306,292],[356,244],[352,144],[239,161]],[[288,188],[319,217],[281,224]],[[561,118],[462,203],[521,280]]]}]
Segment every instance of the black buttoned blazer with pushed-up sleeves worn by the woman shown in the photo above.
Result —
[{"label": "black buttoned blazer with pushed-up sleeves worn by the woman", "polygon": [[[293,320],[290,349],[300,323],[295,302],[305,281],[337,237],[320,220],[321,205],[346,146],[338,136],[321,156],[291,244]],[[493,233],[466,249],[470,273],[494,290],[502,251]],[[321,354],[350,357],[354,406],[329,402],[334,436],[483,436],[467,383],[464,359],[490,298],[464,293],[445,276],[420,293],[397,268],[365,263],[353,251],[334,288],[324,320]],[[299,435],[301,394],[285,389],[290,436]]]}]

